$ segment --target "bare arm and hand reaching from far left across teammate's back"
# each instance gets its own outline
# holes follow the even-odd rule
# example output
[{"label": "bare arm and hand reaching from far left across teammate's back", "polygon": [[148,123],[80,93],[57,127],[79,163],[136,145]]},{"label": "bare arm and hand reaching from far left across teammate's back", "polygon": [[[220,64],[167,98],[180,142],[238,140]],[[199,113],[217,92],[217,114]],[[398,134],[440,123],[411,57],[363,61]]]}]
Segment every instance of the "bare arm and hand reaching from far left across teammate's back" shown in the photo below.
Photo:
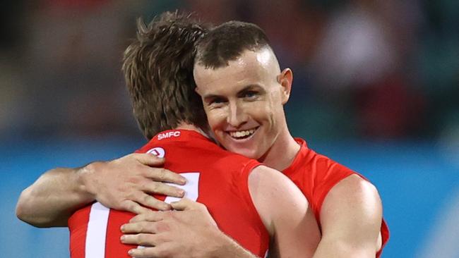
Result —
[{"label": "bare arm and hand reaching from far left across teammate's back", "polygon": [[32,226],[51,227],[67,226],[76,209],[96,200],[107,207],[136,214],[148,211],[145,207],[170,209],[169,204],[147,194],[183,196],[179,188],[153,181],[185,183],[176,173],[150,167],[163,162],[152,154],[129,154],[81,168],[52,169],[23,190],[16,216]]}]

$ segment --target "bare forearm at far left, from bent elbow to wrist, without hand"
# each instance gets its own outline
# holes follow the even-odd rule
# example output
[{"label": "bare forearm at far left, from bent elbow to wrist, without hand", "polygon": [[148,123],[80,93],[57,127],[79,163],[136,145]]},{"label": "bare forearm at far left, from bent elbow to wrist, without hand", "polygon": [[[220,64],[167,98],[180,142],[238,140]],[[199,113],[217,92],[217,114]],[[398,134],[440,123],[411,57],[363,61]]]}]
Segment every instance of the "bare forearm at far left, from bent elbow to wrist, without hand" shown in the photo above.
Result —
[{"label": "bare forearm at far left, from bent elbow to wrist, without hand", "polygon": [[16,216],[37,227],[67,226],[76,209],[94,201],[84,186],[88,168],[54,168],[23,190]]}]

